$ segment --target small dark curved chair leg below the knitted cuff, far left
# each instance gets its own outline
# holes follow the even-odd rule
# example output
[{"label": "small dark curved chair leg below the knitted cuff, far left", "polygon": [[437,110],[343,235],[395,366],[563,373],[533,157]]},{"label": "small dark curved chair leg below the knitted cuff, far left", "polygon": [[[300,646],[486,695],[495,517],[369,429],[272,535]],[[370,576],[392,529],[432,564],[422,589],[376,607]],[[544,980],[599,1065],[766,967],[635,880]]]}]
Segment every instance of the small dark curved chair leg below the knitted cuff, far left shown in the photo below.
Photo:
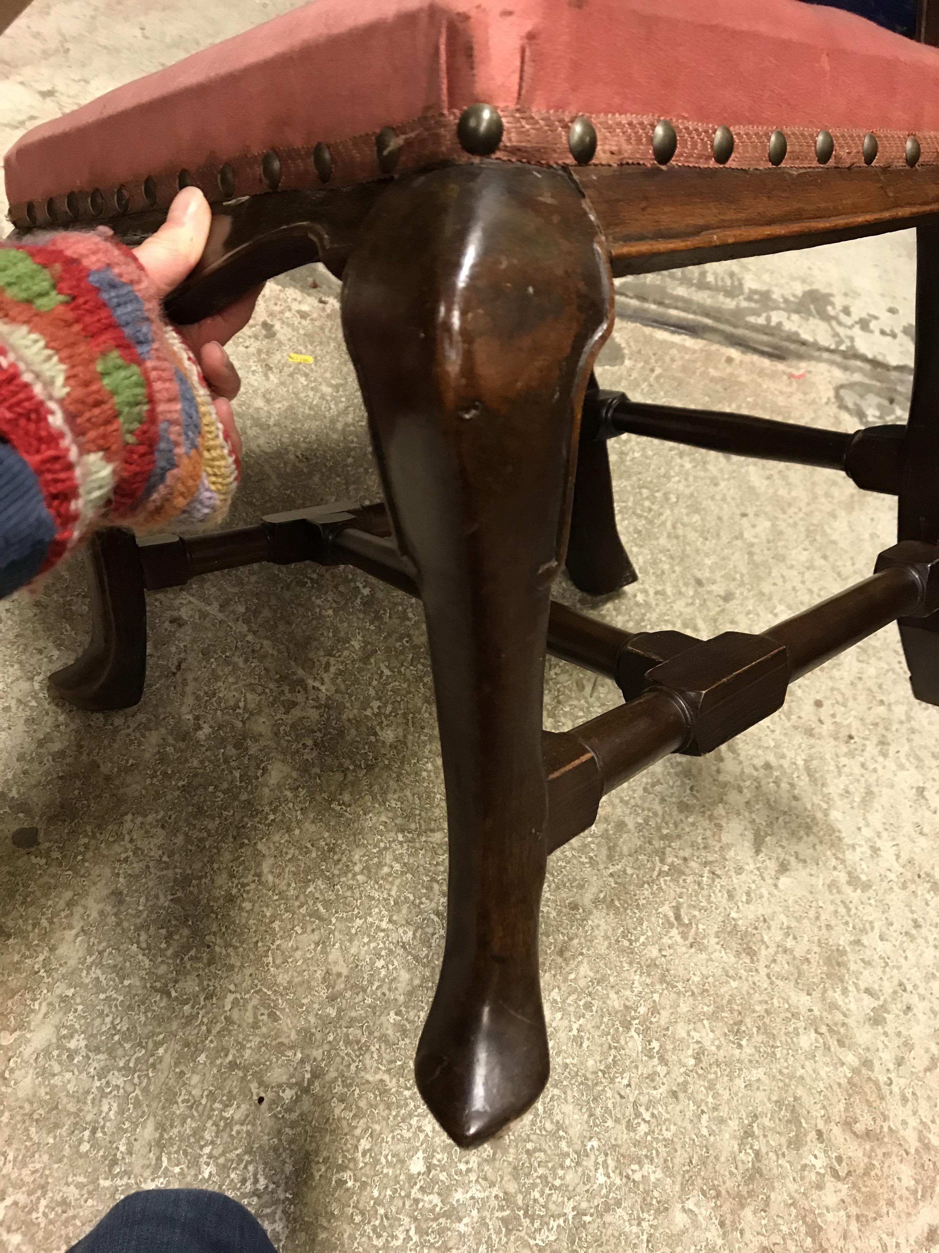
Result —
[{"label": "small dark curved chair leg below the knitted cuff, far left", "polygon": [[85,554],[91,593],[91,640],[49,684],[78,709],[128,709],[144,693],[146,598],[133,531],[99,531]]}]

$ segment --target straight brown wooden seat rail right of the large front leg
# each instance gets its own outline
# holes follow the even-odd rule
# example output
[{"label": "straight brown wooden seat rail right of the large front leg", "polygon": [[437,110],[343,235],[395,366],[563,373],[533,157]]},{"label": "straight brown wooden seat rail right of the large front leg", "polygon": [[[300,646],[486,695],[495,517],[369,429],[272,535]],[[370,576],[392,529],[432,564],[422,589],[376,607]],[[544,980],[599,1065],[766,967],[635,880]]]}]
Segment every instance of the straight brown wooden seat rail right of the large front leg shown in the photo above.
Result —
[{"label": "straight brown wooden seat rail right of the large front leg", "polygon": [[939,165],[596,165],[572,177],[600,221],[617,276],[856,239],[939,214]]}]

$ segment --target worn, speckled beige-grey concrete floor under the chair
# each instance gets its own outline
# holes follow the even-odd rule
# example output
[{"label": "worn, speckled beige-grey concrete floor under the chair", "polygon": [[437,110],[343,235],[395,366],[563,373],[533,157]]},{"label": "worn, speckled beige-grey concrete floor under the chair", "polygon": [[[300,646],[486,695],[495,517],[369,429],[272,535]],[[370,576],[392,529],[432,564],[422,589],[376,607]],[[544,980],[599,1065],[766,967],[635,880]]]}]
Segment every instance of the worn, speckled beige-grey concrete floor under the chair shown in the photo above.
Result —
[{"label": "worn, speckled beige-grey concrete floor under the chair", "polygon": [[[36,0],[0,39],[0,147],[277,9]],[[913,282],[909,236],[623,282],[600,381],[901,419]],[[376,496],[334,284],[270,283],[233,356],[235,523]],[[641,581],[557,589],[612,623],[761,628],[891,543],[894,504],[831,471],[612,456]],[[80,564],[0,605],[4,1253],[184,1184],[244,1200],[283,1253],[939,1247],[939,710],[893,629],[552,858],[552,1079],[463,1153],[411,1074],[446,882],[418,608],[342,570],[205,578],[150,599],[143,703],[99,717],[45,688],[86,623]],[[615,700],[548,663],[548,727]]]}]

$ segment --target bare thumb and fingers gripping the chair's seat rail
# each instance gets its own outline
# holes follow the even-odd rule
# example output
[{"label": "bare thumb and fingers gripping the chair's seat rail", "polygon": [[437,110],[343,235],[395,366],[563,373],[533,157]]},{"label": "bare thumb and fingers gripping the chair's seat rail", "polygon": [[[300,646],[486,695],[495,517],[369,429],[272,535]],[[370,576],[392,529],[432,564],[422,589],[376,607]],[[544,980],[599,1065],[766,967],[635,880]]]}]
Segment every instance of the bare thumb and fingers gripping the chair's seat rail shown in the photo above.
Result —
[{"label": "bare thumb and fingers gripping the chair's seat rail", "polygon": [[[187,187],[170,204],[167,221],[159,231],[135,249],[136,259],[150,276],[160,299],[183,282],[202,257],[210,223],[212,209],[205,195],[198,187]],[[247,326],[259,294],[260,287],[255,287],[220,313],[193,326],[177,327],[199,362],[215,401],[215,412],[239,460],[242,437],[234,424],[232,401],[238,395],[242,380],[224,345]]]}]

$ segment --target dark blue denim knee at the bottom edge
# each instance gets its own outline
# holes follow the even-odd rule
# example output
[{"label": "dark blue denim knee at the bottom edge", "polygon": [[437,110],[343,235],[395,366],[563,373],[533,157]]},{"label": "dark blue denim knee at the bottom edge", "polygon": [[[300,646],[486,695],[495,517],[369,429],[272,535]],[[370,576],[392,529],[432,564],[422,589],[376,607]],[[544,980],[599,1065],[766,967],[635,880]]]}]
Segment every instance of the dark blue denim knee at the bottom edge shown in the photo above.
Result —
[{"label": "dark blue denim knee at the bottom edge", "polygon": [[69,1253],[277,1253],[244,1205],[220,1192],[134,1192]]}]

